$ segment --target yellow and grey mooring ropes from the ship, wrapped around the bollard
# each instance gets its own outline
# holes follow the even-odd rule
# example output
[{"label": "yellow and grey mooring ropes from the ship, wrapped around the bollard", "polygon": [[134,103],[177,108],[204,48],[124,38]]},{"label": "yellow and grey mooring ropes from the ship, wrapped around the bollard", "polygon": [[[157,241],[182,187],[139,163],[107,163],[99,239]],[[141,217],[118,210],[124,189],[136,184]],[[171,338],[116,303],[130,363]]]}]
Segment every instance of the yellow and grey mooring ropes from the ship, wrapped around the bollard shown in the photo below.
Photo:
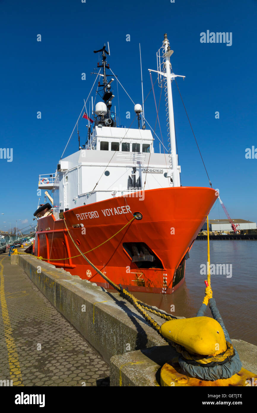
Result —
[{"label": "yellow and grey mooring ropes from the ship, wrapped around the bollard", "polygon": [[[102,242],[99,244],[97,247],[91,249],[90,251],[87,251],[86,253],[83,253],[78,245],[75,243],[73,240],[71,233],[66,225],[66,220],[64,218],[64,224],[66,227],[66,230],[68,232],[69,237],[71,238],[71,241],[75,245],[76,249],[78,249],[78,252],[80,254],[70,257],[70,258],[75,258],[78,256],[83,256],[83,258],[87,261],[88,264],[99,274],[101,275],[104,280],[106,280],[115,290],[117,290],[120,294],[120,297],[123,297],[126,299],[130,304],[134,306],[134,308],[144,317],[144,319],[149,323],[149,325],[158,332],[159,335],[165,339],[165,341],[170,344],[172,347],[176,349],[176,351],[180,354],[179,356],[179,364],[180,366],[189,374],[193,375],[194,377],[199,377],[202,380],[217,380],[219,378],[226,378],[226,377],[231,377],[233,374],[237,373],[241,367],[242,363],[240,362],[238,353],[236,350],[233,348],[233,344],[231,342],[231,339],[229,338],[228,332],[224,326],[224,323],[222,321],[222,318],[219,314],[219,311],[216,307],[215,300],[212,298],[212,288],[211,288],[211,283],[210,283],[210,243],[209,243],[209,227],[208,227],[208,216],[207,216],[207,228],[208,228],[208,250],[207,250],[207,280],[205,280],[205,297],[203,299],[203,303],[200,306],[200,309],[198,310],[198,313],[196,315],[196,318],[201,317],[201,318],[208,318],[209,320],[212,320],[215,323],[219,323],[219,325],[222,327],[222,331],[224,332],[224,337],[226,338],[225,343],[226,343],[226,349],[224,349],[220,354],[218,352],[213,351],[213,354],[198,354],[196,351],[189,351],[188,348],[183,346],[181,343],[175,342],[171,337],[172,337],[172,326],[174,326],[174,332],[176,332],[177,325],[187,321],[190,322],[191,325],[195,323],[194,320],[196,318],[187,318],[187,319],[178,319],[175,316],[172,316],[170,314],[165,313],[164,311],[156,311],[154,307],[149,306],[148,304],[145,304],[141,302],[139,299],[134,297],[133,294],[125,290],[120,284],[117,285],[115,282],[113,282],[110,278],[108,278],[104,273],[102,273],[88,258],[85,256],[88,252],[93,251],[94,249],[100,247],[101,245],[105,244],[111,238],[113,238],[115,235],[120,233],[127,225],[132,223],[134,219],[136,218],[136,215],[133,216],[133,218],[126,223],[116,234],[114,234],[112,237],[108,238],[108,240]],[[18,252],[16,252],[18,253]],[[18,253],[21,254],[21,253]],[[34,256],[33,254],[29,254]],[[34,256],[37,259],[43,259],[40,256]],[[67,258],[68,259],[68,258]],[[46,259],[43,259],[46,260]],[[47,259],[49,261],[49,259]],[[58,260],[51,260],[51,261],[59,261]],[[212,311],[212,318],[209,317],[203,317],[203,314],[205,310],[207,309],[207,304],[209,304],[210,309]],[[163,318],[166,322],[163,323],[162,325],[159,325],[146,311],[149,311],[156,316]],[[200,319],[199,319],[200,320]],[[170,325],[170,323],[172,324]],[[165,334],[165,327],[168,327],[168,333]],[[213,330],[213,328],[212,328]],[[216,328],[217,330],[217,328]],[[173,336],[176,336],[176,334],[173,334]],[[192,340],[192,337],[191,337]],[[178,340],[179,341],[179,340]],[[189,340],[190,341],[190,340]],[[206,378],[207,377],[207,378]]]}]

